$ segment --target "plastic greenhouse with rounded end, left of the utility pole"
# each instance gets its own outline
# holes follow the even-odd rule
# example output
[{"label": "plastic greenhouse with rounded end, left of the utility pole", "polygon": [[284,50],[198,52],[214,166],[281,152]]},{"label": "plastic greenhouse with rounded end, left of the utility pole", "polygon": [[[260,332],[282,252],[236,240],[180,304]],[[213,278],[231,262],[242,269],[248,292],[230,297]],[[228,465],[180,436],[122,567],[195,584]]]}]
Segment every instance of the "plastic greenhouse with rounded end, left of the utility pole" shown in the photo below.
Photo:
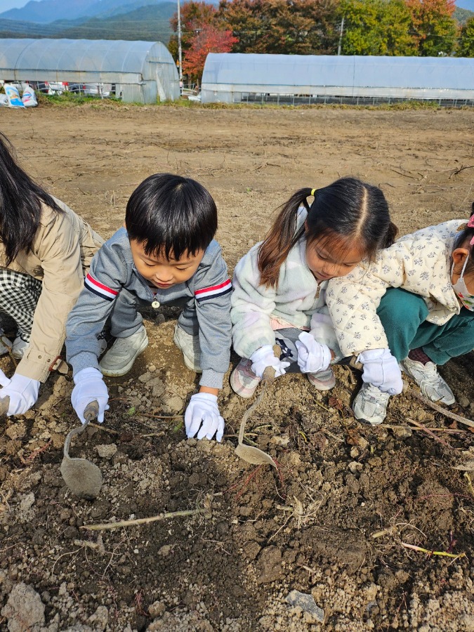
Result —
[{"label": "plastic greenhouse with rounded end, left of the utility pole", "polygon": [[178,70],[161,41],[2,39],[0,79],[114,84],[128,103],[180,96]]}]

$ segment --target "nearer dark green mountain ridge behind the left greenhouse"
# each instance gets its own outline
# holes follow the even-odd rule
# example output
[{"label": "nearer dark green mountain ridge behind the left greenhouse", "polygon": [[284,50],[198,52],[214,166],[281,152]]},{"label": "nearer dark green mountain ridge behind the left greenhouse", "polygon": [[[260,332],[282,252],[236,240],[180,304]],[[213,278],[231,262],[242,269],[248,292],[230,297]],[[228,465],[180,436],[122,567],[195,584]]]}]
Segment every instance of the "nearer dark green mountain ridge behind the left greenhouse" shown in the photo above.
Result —
[{"label": "nearer dark green mountain ridge behind the left greenhouse", "polygon": [[[44,2],[46,4],[48,0]],[[0,38],[143,39],[168,44],[172,33],[169,20],[174,13],[176,3],[162,1],[152,6],[142,6],[129,13],[102,19],[77,18],[57,20],[49,24],[0,19]]]}]

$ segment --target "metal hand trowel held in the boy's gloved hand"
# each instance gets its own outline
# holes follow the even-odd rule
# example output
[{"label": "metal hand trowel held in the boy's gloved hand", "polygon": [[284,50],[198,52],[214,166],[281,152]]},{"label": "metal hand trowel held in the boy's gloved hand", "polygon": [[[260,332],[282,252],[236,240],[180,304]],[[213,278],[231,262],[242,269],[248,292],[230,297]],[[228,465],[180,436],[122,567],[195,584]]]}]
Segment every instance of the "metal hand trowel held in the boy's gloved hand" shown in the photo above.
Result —
[{"label": "metal hand trowel held in the boy's gloved hand", "polygon": [[89,425],[89,422],[96,419],[98,412],[98,402],[87,404],[84,411],[86,423],[79,428],[73,428],[66,437],[64,442],[64,456],[60,468],[62,478],[71,492],[79,496],[79,498],[85,498],[87,500],[93,500],[98,496],[100,487],[102,487],[102,474],[100,473],[100,469],[94,463],[91,463],[91,461],[87,459],[72,459],[69,456],[69,447],[72,437],[83,433]]}]

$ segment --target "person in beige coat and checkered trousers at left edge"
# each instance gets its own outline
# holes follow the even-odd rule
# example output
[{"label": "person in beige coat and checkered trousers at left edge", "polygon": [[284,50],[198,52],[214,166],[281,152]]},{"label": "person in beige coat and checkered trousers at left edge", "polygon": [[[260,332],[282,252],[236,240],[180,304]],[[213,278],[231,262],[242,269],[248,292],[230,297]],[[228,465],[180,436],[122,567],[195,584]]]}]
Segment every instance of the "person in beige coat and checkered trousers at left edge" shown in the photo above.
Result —
[{"label": "person in beige coat and checkered trousers at left edge", "polygon": [[23,171],[0,133],[0,312],[15,321],[12,353],[20,359],[11,379],[0,370],[8,415],[27,412],[50,372],[67,370],[60,357],[65,322],[101,244],[84,220]]}]

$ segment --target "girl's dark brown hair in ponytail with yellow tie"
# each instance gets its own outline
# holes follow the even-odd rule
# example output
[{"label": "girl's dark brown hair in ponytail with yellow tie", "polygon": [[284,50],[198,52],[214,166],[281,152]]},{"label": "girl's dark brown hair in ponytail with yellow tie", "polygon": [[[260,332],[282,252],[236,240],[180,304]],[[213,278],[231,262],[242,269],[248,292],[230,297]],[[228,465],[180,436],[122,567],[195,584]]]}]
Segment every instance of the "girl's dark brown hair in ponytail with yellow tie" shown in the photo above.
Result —
[{"label": "girl's dark brown hair in ponytail with yellow tie", "polygon": [[[315,199],[308,204],[314,191]],[[296,231],[297,211],[308,211],[306,227]],[[371,259],[380,248],[391,246],[397,227],[383,192],[357,178],[339,178],[321,189],[300,189],[281,207],[275,222],[258,251],[261,283],[276,287],[279,268],[304,232],[308,243],[328,242],[342,249],[349,242],[360,246],[364,258]]]}]

